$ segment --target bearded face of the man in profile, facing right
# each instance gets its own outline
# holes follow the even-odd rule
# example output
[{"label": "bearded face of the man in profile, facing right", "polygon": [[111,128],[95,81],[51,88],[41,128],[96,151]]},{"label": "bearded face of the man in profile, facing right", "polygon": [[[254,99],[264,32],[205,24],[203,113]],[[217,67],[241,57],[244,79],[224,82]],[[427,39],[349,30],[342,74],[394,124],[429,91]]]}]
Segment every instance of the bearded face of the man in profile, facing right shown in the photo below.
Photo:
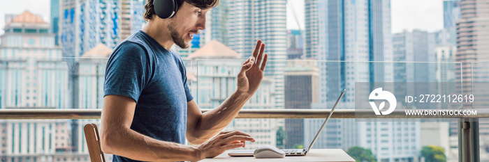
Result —
[{"label": "bearded face of the man in profile, facing right", "polygon": [[177,46],[187,49],[194,34],[198,34],[198,30],[205,29],[207,10],[209,9],[203,10],[184,2],[177,13],[169,19],[168,30]]}]

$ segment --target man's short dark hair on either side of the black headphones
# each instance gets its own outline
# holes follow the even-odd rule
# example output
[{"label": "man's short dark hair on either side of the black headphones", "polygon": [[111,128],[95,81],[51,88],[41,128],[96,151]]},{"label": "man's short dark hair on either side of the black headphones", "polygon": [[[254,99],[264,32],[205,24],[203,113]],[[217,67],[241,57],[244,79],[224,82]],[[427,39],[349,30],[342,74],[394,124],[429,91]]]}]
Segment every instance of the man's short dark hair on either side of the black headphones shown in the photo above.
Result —
[{"label": "man's short dark hair on either side of the black headphones", "polygon": [[[143,15],[143,18],[146,21],[151,19],[153,15],[156,15],[156,13],[154,13],[153,1],[154,0],[147,0],[147,3],[145,4],[146,11]],[[219,4],[219,0],[177,0],[178,6],[182,6],[184,2],[190,3],[191,5],[202,9],[214,8],[215,6],[217,6],[217,4]]]}]

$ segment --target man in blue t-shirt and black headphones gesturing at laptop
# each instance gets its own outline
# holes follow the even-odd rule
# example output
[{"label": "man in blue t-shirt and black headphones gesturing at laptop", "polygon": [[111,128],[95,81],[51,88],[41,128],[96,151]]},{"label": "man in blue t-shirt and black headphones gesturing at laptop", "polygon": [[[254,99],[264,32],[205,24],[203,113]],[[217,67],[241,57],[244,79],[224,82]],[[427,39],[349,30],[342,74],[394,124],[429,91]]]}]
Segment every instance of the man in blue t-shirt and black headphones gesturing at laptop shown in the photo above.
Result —
[{"label": "man in blue t-shirt and black headphones gesturing at laptop", "polygon": [[[233,95],[201,113],[187,86],[182,58],[170,48],[174,43],[189,47],[187,42],[205,29],[205,14],[218,0],[177,2],[177,13],[161,19],[148,0],[147,26],[121,42],[108,60],[101,148],[114,154],[114,161],[199,161],[254,142],[240,131],[219,131],[260,86],[268,58],[265,44],[258,40],[242,64]],[[183,145],[186,138],[194,145]]]}]

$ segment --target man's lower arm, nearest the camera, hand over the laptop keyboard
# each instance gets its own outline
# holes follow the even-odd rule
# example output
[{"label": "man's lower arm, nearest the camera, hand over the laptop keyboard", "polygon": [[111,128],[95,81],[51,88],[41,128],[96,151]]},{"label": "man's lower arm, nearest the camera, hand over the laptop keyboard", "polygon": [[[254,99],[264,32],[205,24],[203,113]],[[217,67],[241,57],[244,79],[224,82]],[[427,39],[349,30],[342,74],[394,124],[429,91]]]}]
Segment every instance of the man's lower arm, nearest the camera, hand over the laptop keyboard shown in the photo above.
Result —
[{"label": "man's lower arm, nearest the camera, hand over the laptop keyboard", "polygon": [[107,95],[101,116],[101,149],[138,161],[199,161],[242,147],[236,140],[254,140],[240,132],[222,132],[203,145],[189,146],[156,140],[130,129],[136,102],[130,97]]}]

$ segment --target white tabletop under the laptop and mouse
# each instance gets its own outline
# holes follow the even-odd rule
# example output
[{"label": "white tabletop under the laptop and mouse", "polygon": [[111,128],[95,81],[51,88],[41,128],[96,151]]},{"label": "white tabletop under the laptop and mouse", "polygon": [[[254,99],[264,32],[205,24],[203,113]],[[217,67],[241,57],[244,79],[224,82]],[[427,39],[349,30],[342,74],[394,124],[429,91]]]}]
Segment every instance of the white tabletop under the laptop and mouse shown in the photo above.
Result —
[{"label": "white tabletop under the laptop and mouse", "polygon": [[323,162],[323,161],[348,161],[354,162],[355,159],[351,158],[346,152],[342,149],[311,149],[307,152],[306,156],[285,156],[285,158],[278,159],[256,159],[254,156],[245,156],[245,157],[233,157],[229,156],[228,152],[230,150],[216,156],[212,159],[203,159],[202,162],[214,162],[214,161],[315,161],[315,162]]}]

